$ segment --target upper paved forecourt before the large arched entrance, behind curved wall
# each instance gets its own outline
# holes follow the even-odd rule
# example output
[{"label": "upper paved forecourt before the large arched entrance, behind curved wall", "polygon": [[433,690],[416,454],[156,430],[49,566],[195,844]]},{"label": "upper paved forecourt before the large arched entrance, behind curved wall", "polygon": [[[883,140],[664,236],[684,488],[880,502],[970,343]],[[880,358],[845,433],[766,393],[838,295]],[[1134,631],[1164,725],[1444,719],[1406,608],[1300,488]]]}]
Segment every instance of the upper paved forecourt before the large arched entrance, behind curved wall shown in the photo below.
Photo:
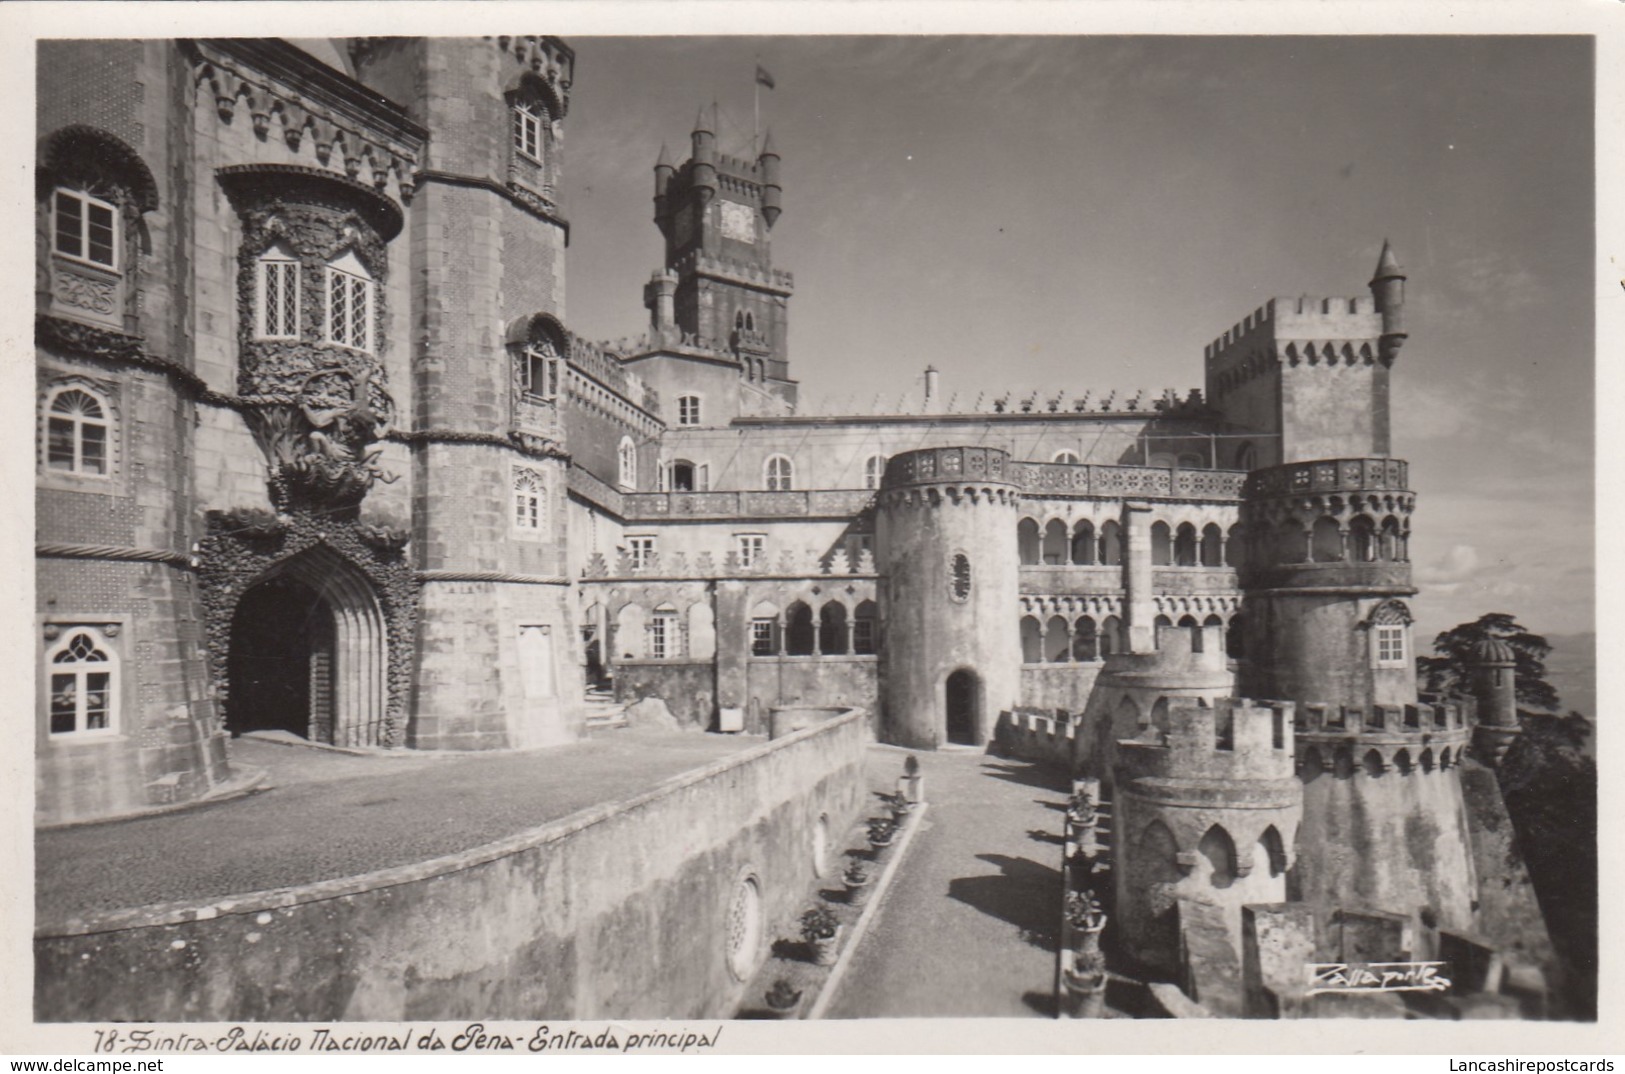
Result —
[{"label": "upper paved forecourt before the large arched entrance, behind curved wall", "polygon": [[512,754],[351,756],[232,739],[232,764],[268,769],[270,790],[37,832],[36,915],[49,925],[424,861],[630,798],[762,741],[618,731]]}]

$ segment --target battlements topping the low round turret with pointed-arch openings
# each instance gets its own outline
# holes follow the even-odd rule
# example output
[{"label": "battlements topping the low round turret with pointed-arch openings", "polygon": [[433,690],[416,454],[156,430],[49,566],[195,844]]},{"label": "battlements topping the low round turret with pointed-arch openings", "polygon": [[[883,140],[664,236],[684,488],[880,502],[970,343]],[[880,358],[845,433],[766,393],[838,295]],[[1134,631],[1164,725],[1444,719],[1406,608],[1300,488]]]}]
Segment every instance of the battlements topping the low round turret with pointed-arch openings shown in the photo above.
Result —
[{"label": "battlements topping the low round turret with pointed-arch openings", "polygon": [[1167,717],[1118,741],[1118,780],[1279,780],[1292,775],[1294,704],[1170,699]]}]

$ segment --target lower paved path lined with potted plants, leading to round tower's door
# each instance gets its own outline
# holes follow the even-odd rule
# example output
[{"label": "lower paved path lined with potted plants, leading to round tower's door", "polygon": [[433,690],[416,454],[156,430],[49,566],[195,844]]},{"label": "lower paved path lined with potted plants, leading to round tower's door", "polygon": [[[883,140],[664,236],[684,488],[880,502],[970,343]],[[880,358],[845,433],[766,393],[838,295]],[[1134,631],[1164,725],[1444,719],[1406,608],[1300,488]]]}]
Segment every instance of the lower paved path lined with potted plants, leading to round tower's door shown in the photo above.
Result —
[{"label": "lower paved path lined with potted plants, leading to round tower's door", "polygon": [[[904,756],[871,749],[871,783],[890,790]],[[827,1017],[1050,1016],[1064,775],[970,751],[915,756],[930,809]]]}]

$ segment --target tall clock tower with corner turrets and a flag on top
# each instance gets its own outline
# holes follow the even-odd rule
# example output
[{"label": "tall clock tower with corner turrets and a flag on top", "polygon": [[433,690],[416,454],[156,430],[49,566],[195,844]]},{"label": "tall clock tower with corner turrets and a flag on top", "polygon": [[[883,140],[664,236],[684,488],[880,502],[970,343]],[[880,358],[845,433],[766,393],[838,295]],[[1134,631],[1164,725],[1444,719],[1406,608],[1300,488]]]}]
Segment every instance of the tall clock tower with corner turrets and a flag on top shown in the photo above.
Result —
[{"label": "tall clock tower with corner turrets and a flag on top", "polygon": [[666,239],[665,273],[647,292],[655,327],[670,323],[682,344],[730,356],[744,380],[793,401],[793,279],[774,268],[770,242],[783,197],[772,135],[752,146],[754,159],[723,153],[712,106],[691,140],[684,164],[673,166],[665,148],[655,164],[655,223]]}]

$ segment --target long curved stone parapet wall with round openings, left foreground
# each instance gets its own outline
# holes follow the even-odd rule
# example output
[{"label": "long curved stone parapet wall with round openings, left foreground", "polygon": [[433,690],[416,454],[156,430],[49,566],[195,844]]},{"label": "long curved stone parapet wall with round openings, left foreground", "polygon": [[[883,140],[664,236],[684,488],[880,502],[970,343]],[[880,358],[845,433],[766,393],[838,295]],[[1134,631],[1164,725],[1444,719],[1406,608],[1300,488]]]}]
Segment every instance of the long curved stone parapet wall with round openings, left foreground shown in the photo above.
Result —
[{"label": "long curved stone parapet wall with round openings, left foreground", "polygon": [[749,978],[728,959],[739,889],[756,886],[754,970],[814,881],[819,822],[845,830],[863,808],[864,741],[864,713],[847,712],[447,858],[208,905],[47,918],[34,934],[34,1017],[728,1017]]}]

